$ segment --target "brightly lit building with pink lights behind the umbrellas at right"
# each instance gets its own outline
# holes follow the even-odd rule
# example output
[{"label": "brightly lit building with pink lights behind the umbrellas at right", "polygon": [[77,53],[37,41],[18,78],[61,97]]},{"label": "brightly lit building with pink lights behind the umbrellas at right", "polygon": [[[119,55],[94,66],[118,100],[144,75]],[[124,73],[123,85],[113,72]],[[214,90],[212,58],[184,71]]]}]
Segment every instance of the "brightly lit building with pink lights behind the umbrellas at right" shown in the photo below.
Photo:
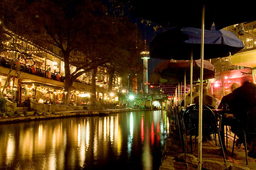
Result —
[{"label": "brightly lit building with pink lights behind the umbrellas at right", "polygon": [[216,67],[216,77],[210,80],[210,91],[220,100],[230,93],[233,83],[241,86],[245,77],[255,83],[256,78],[256,21],[235,24],[226,30],[235,33],[245,47],[233,56],[211,60]]}]

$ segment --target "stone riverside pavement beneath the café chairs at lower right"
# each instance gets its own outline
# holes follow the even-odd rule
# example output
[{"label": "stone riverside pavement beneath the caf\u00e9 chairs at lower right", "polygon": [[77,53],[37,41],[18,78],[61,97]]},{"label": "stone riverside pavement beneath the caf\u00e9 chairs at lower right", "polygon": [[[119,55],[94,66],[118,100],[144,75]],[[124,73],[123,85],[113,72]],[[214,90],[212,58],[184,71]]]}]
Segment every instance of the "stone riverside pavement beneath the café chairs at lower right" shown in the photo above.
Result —
[{"label": "stone riverside pavement beneath the caf\u00e9 chairs at lower right", "polygon": [[[193,154],[189,154],[190,145],[188,142],[187,163],[185,163],[182,142],[180,142],[179,140],[179,133],[177,129],[174,128],[173,124],[171,124],[170,127],[170,132],[165,143],[165,149],[163,152],[162,165],[160,166],[160,170],[197,169],[198,144],[196,143],[196,148],[193,144]],[[245,148],[243,147],[243,145],[240,149],[235,147],[233,157],[231,157],[232,147],[233,137],[232,135],[230,135],[228,136],[228,155],[226,155],[226,163],[224,163],[221,149],[219,145],[216,147],[215,140],[208,140],[206,142],[203,142],[202,169],[256,169],[256,159],[252,157],[248,157],[248,165],[246,165]]]}]

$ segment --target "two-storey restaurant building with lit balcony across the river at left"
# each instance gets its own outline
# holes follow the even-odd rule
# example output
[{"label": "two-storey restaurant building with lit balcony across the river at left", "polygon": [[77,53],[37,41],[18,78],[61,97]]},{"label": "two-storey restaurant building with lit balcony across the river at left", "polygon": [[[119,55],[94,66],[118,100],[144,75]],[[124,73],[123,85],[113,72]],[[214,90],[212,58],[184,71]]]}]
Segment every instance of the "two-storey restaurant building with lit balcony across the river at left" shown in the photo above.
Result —
[{"label": "two-storey restaurant building with lit balcony across the river at left", "polygon": [[[53,47],[39,47],[10,30],[5,31],[9,35],[9,41],[4,42],[7,50],[0,53],[0,89],[2,91],[6,85],[4,96],[9,101],[17,103],[18,106],[21,106],[26,98],[37,103],[62,104],[62,99],[69,97],[74,106],[88,103],[91,93],[91,72],[75,80],[70,96],[65,96],[65,63],[60,57],[61,52]],[[21,53],[26,53],[27,57],[18,57]],[[16,58],[19,60],[15,60]],[[70,69],[72,72],[75,67],[71,66]],[[107,100],[108,74],[104,67],[99,67],[98,71],[96,100]],[[10,79],[6,82],[8,77]],[[117,78],[113,90],[118,91],[120,87],[121,78]]]}]

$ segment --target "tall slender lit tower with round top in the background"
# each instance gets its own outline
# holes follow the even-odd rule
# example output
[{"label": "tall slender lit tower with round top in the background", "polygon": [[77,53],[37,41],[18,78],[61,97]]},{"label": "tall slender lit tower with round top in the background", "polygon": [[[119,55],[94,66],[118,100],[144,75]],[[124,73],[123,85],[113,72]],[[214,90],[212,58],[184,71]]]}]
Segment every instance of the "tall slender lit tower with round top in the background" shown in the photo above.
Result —
[{"label": "tall slender lit tower with round top in the background", "polygon": [[148,51],[148,46],[145,40],[145,49],[140,52],[141,59],[143,59],[143,92],[148,94],[148,60],[150,59],[150,52]]}]

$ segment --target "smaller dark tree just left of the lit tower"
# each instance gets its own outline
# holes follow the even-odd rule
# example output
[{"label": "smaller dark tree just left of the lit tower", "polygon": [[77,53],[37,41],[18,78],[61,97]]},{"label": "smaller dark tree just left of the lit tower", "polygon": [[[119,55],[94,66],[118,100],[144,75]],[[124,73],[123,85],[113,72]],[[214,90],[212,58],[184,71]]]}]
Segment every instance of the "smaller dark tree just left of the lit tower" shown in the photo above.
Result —
[{"label": "smaller dark tree just left of the lit tower", "polygon": [[143,40],[140,31],[134,23],[126,18],[118,23],[119,41],[115,45],[116,50],[109,54],[106,69],[109,75],[108,91],[112,90],[112,83],[115,74],[128,75],[132,70],[139,71],[143,65],[140,62],[140,51],[143,49]]}]

